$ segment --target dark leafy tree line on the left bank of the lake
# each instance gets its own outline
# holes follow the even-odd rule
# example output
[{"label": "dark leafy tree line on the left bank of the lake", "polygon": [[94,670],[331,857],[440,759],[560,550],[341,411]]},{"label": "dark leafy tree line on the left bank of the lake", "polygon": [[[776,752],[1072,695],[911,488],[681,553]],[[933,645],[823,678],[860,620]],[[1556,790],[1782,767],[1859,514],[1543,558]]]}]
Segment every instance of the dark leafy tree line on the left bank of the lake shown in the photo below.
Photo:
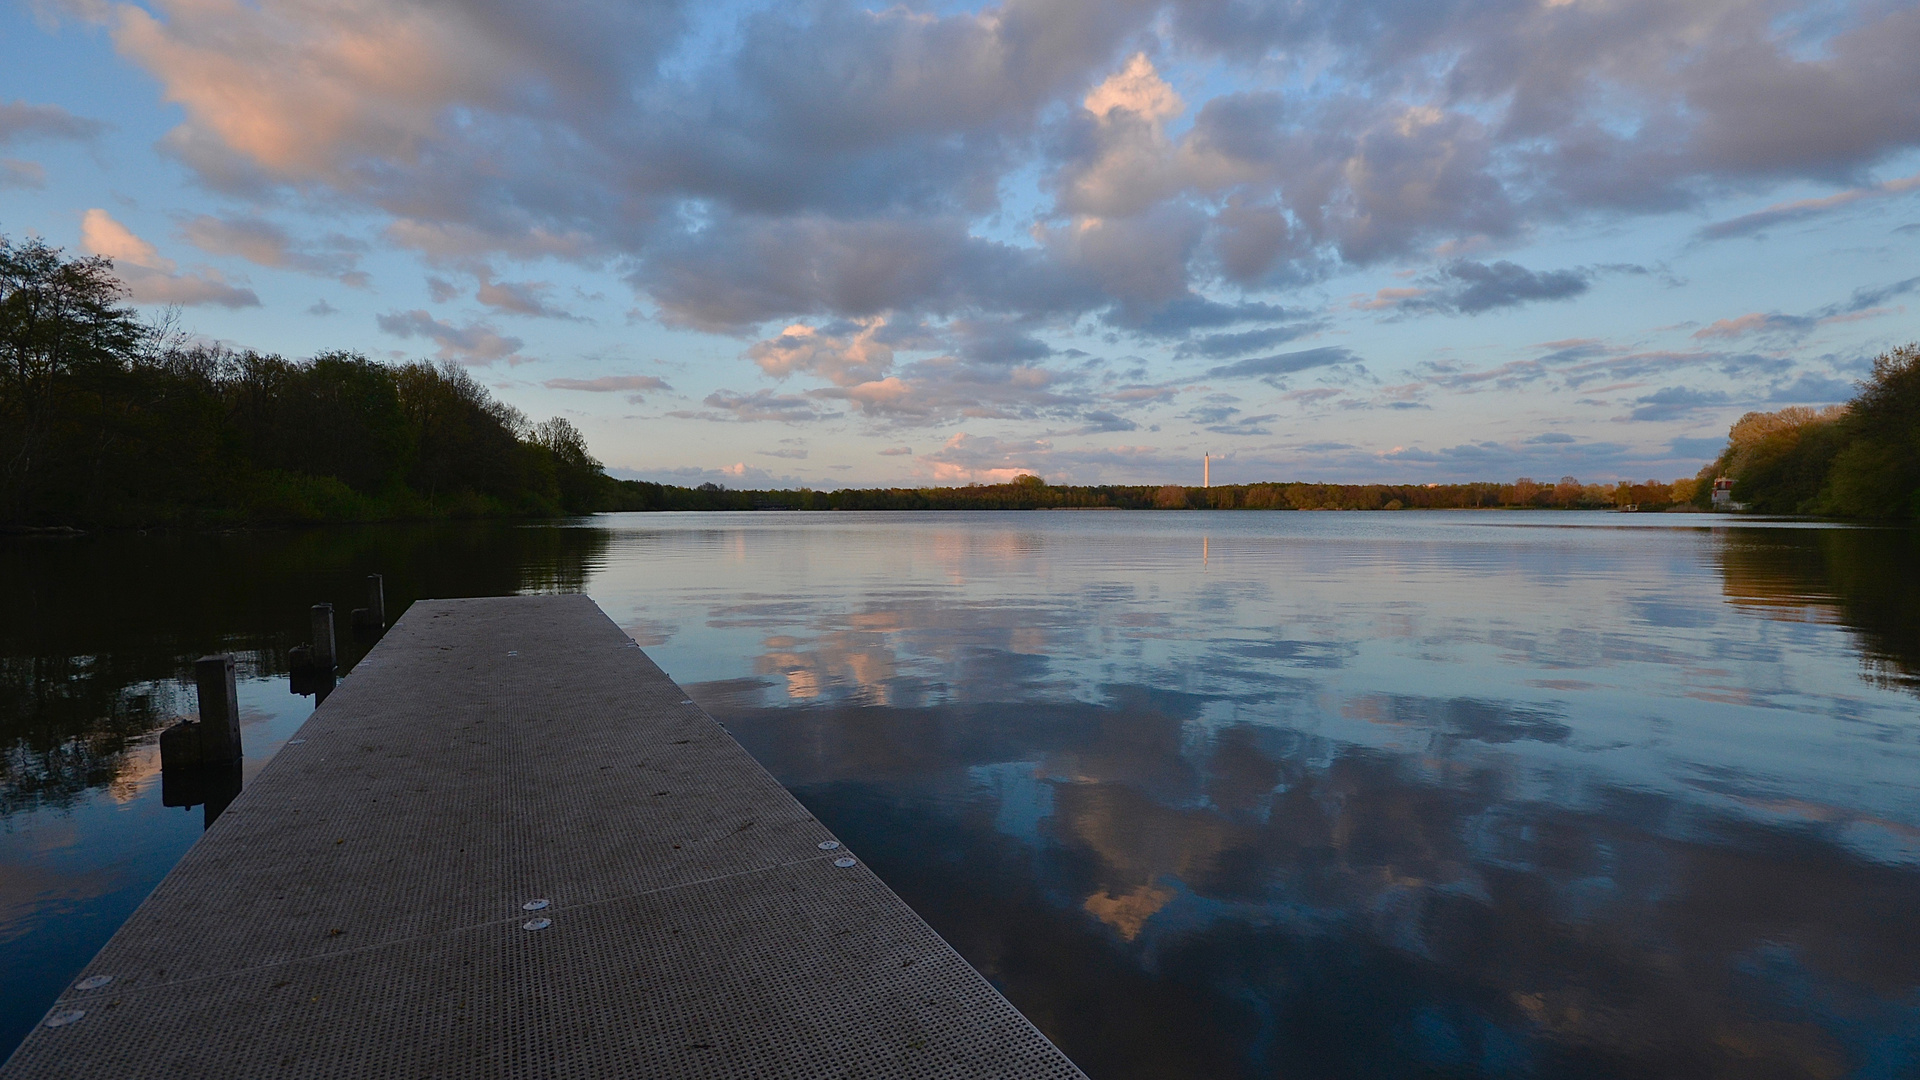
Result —
[{"label": "dark leafy tree line on the left bank of the lake", "polygon": [[0,523],[238,525],[605,509],[564,419],[465,369],[194,344],[104,258],[0,236]]}]

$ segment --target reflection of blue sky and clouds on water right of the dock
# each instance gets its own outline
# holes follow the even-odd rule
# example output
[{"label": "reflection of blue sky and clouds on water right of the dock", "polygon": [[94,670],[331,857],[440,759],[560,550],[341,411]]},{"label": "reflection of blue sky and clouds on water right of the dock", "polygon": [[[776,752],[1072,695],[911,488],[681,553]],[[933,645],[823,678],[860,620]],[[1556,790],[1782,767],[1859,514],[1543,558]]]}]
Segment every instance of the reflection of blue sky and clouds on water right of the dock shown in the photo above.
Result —
[{"label": "reflection of blue sky and clouds on water right of the dock", "polygon": [[1920,1065],[1912,698],[1859,669],[1914,653],[1822,577],[1885,552],[1037,517],[743,521],[810,557],[705,626],[697,565],[591,590],[749,669],[691,692],[1092,1076]]}]

